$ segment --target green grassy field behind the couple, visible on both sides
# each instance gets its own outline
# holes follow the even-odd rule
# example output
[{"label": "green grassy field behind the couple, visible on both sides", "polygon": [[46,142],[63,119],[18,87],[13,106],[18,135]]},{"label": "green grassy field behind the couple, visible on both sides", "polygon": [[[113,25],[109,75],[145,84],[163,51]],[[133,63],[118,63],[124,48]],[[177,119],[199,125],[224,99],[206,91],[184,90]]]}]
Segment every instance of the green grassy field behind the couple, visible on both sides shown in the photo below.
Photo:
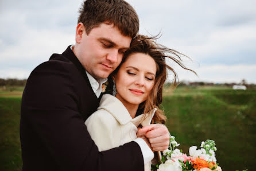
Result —
[{"label": "green grassy field behind the couple, visible on both sides", "polygon": [[[21,170],[19,135],[23,87],[0,89],[0,170]],[[222,170],[254,170],[256,90],[223,87],[165,90],[166,125],[188,154],[189,146],[215,140]]]}]

